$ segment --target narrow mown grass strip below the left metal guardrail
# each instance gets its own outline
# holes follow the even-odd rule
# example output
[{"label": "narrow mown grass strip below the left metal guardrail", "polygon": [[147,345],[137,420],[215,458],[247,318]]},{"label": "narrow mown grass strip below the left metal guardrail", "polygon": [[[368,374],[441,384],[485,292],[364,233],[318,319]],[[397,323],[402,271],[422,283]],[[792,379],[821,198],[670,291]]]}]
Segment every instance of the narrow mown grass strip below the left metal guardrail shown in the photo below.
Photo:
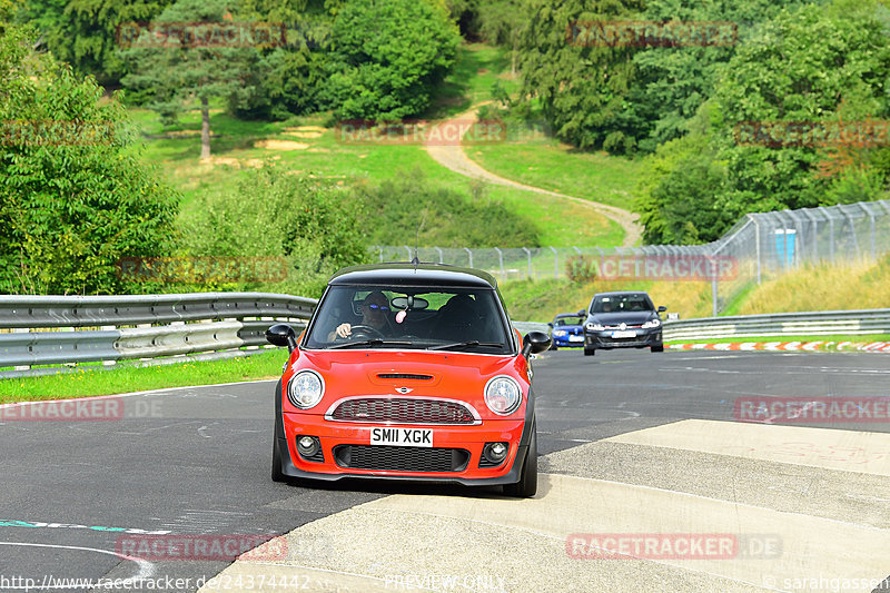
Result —
[{"label": "narrow mown grass strip below the left metal guardrail", "polygon": [[277,378],[285,360],[286,350],[275,349],[226,360],[142,367],[121,363],[42,377],[3,378],[0,379],[0,404]]}]

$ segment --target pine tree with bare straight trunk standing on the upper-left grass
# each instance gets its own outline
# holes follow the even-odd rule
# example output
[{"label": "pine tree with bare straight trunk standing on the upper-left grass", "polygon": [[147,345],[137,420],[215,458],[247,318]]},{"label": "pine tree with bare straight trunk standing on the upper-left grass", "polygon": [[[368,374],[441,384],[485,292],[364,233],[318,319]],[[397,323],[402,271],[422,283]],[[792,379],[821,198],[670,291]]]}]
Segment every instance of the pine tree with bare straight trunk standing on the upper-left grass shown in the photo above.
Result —
[{"label": "pine tree with bare straight trunk standing on the upper-left grass", "polygon": [[[151,26],[158,31],[165,27],[171,31],[179,28],[184,31],[181,34],[170,34],[165,42],[156,45],[157,38],[142,32],[134,47],[123,52],[130,72],[123,77],[123,85],[149,93],[149,107],[166,121],[176,120],[187,100],[198,99],[201,158],[210,157],[210,99],[241,105],[249,95],[249,86],[256,83],[251,72],[260,62],[256,47],[245,47],[241,40],[229,42],[214,32],[231,20],[226,7],[225,0],[179,0]],[[219,28],[214,29],[214,26]],[[205,32],[210,36],[209,41],[199,38]],[[190,38],[189,33],[196,37]]]}]

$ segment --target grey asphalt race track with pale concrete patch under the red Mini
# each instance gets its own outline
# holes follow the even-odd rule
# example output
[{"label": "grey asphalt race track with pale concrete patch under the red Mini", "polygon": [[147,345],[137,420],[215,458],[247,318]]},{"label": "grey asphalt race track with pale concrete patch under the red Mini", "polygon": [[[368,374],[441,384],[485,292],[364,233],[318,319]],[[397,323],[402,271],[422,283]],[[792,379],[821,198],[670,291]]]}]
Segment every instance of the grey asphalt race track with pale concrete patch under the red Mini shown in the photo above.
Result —
[{"label": "grey asphalt race track with pale concrete patch under the red Mini", "polygon": [[[275,484],[274,382],[128,395],[101,419],[4,419],[0,591],[890,591],[876,584],[890,574],[890,425],[740,423],[734,408],[890,398],[890,356],[561,349],[534,368],[543,474],[527,501]],[[287,535],[235,563],[122,560],[140,531]],[[629,560],[566,543],[596,533],[746,547]],[[103,577],[144,581],[62,581]]]}]

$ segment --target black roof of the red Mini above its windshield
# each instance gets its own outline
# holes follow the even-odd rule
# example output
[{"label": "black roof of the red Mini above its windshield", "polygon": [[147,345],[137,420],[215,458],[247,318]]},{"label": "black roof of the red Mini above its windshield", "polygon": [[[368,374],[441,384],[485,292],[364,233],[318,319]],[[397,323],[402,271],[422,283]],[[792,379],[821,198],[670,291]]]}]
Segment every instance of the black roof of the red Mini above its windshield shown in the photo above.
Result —
[{"label": "black roof of the red Mini above its windshield", "polygon": [[337,271],[328,280],[330,286],[443,286],[495,288],[497,280],[487,271],[459,268],[444,264],[412,264],[409,261],[350,266]]}]

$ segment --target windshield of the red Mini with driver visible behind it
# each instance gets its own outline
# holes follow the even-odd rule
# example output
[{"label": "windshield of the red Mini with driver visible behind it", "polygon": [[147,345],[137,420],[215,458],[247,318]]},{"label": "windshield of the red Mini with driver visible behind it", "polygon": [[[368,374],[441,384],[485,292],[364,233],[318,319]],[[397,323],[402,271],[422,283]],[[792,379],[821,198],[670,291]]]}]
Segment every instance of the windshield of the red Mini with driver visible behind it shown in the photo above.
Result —
[{"label": "windshield of the red Mini with driver visible behind it", "polygon": [[377,286],[332,286],[318,305],[304,346],[484,354],[510,354],[513,348],[492,289]]}]

